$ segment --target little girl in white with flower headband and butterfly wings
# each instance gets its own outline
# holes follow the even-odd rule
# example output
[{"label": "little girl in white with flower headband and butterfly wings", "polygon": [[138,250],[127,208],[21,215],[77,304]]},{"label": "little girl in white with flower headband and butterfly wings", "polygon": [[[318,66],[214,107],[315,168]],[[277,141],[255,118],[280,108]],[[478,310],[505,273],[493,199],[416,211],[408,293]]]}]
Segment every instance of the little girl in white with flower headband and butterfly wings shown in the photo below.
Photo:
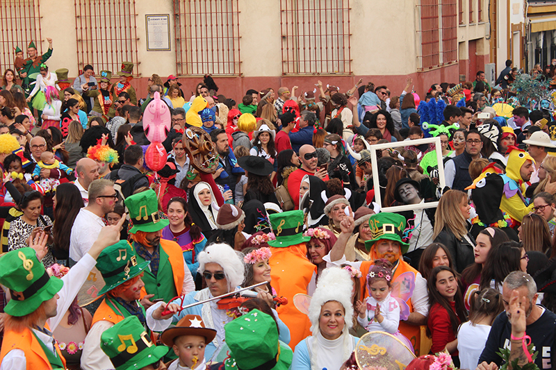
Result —
[{"label": "little girl in white with flower headband and butterfly wings", "polygon": [[412,349],[409,339],[398,330],[402,312],[398,298],[391,295],[392,278],[392,264],[388,260],[375,260],[367,275],[367,289],[370,295],[365,303],[355,303],[359,312],[357,322],[367,331],[385,331],[395,335],[407,348]]}]

